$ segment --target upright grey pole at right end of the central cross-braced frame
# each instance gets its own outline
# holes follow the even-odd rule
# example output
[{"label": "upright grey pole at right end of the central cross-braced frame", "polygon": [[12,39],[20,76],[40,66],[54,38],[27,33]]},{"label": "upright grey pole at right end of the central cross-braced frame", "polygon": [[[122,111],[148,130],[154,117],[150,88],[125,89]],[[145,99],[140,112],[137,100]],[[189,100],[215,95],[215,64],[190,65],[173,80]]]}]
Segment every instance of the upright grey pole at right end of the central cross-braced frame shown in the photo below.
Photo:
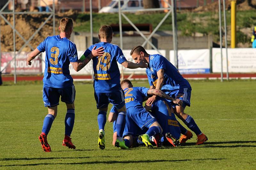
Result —
[{"label": "upright grey pole at right end of the central cross-braced frame", "polygon": [[174,51],[174,58],[176,68],[179,70],[178,66],[178,43],[177,43],[177,16],[176,16],[176,1],[172,0],[172,41],[173,41],[173,51]]}]

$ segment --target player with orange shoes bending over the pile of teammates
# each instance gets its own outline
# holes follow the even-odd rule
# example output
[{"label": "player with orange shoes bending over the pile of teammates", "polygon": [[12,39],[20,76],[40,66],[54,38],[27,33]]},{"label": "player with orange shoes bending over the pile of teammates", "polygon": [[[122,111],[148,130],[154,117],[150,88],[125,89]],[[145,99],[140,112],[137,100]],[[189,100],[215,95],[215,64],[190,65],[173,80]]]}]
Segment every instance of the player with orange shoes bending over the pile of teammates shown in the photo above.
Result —
[{"label": "player with orange shoes bending over the pile of teammates", "polygon": [[[196,133],[196,144],[203,144],[207,141],[208,138],[198,128],[194,119],[190,115],[184,113],[185,107],[190,106],[192,88],[172,63],[162,55],[149,55],[142,46],[135,46],[132,48],[130,55],[132,55],[132,58],[136,63],[145,62],[148,64],[146,73],[150,78],[150,88],[161,89],[173,98],[183,100],[183,106],[176,106],[177,116],[188,126],[189,129]],[[156,96],[152,96],[148,99],[147,104],[151,105],[155,100]],[[187,132],[182,132],[182,134],[184,135],[180,137],[181,143],[185,143],[193,136],[189,130],[187,130]]]}]

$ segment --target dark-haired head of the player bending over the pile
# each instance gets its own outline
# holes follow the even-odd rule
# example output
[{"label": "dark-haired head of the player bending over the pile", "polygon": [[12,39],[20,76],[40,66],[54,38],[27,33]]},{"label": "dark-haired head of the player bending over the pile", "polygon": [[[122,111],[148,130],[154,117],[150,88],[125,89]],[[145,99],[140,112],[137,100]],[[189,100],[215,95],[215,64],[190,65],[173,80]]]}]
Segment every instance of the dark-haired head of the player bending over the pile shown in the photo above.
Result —
[{"label": "dark-haired head of the player bending over the pile", "polygon": [[135,63],[140,63],[141,61],[147,62],[145,57],[148,56],[148,53],[142,46],[133,47],[130,55],[132,55],[132,59]]}]

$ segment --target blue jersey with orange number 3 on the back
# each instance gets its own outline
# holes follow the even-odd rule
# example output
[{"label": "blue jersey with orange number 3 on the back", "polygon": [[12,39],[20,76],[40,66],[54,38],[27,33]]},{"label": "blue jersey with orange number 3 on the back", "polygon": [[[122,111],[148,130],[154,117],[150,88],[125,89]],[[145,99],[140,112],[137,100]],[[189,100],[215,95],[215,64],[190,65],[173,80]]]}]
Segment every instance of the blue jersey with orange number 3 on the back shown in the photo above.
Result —
[{"label": "blue jersey with orange number 3 on the back", "polygon": [[37,49],[45,51],[45,70],[43,83],[46,87],[65,88],[73,85],[70,76],[70,62],[77,62],[76,45],[60,35],[47,37]]}]

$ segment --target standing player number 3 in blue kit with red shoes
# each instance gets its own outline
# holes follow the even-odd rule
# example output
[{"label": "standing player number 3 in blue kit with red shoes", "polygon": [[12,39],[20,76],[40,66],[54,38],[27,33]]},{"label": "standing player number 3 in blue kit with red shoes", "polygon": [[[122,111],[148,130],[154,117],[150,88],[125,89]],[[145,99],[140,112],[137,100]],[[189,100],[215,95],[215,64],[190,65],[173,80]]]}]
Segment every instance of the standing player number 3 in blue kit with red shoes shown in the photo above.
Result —
[{"label": "standing player number 3 in blue kit with red shoes", "polygon": [[44,106],[48,107],[48,114],[44,118],[42,133],[39,136],[40,143],[45,152],[51,152],[51,147],[47,142],[47,135],[51,129],[52,122],[57,116],[57,106],[61,96],[61,101],[66,103],[67,113],[65,118],[65,137],[63,146],[76,149],[71,142],[71,132],[75,121],[75,95],[76,90],[73,85],[73,78],[69,73],[69,63],[74,70],[81,70],[89,61],[88,58],[102,54],[102,48],[92,50],[84,62],[78,62],[76,45],[68,40],[73,31],[73,21],[70,18],[60,19],[60,35],[48,36],[39,46],[32,51],[27,58],[28,65],[41,52],[45,55],[45,70],[43,78],[43,100]]}]

